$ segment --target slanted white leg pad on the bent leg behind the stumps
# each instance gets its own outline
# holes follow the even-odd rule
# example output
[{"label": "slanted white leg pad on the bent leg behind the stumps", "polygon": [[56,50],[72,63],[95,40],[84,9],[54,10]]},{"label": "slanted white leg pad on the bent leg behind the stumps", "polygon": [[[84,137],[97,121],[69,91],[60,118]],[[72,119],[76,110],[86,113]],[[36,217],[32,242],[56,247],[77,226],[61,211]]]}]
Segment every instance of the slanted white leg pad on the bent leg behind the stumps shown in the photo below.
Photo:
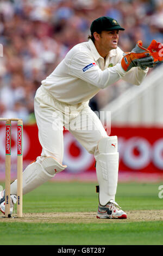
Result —
[{"label": "slanted white leg pad on the bent leg behind the stumps", "polygon": [[[54,157],[37,157],[37,160],[27,166],[23,172],[23,194],[26,194],[46,181],[52,179],[55,174],[64,170],[67,166],[62,166]],[[12,182],[10,193],[17,194],[17,180]]]}]

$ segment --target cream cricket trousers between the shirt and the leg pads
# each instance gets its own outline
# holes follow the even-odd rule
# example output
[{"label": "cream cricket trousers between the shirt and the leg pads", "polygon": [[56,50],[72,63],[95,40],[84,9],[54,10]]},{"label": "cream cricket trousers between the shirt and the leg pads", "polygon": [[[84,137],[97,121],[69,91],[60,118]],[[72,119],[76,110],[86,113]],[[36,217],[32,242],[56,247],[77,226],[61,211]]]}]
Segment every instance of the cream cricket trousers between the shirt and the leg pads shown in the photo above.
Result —
[{"label": "cream cricket trousers between the shirt and the leg pads", "polygon": [[68,105],[55,100],[41,86],[34,101],[35,117],[42,146],[41,157],[53,156],[62,164],[64,156],[63,127],[94,156],[98,156],[98,142],[107,133],[88,103]]}]

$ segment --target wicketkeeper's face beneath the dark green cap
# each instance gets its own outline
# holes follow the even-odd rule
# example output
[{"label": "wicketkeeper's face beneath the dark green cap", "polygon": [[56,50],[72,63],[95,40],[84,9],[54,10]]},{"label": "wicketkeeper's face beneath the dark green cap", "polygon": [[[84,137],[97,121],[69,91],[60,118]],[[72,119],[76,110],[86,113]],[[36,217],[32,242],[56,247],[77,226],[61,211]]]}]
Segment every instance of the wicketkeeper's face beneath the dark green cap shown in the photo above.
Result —
[{"label": "wicketkeeper's face beneath the dark green cap", "polygon": [[119,37],[118,33],[118,29],[114,29],[112,31],[102,31],[99,36],[99,46],[105,48],[106,51],[116,49]]}]

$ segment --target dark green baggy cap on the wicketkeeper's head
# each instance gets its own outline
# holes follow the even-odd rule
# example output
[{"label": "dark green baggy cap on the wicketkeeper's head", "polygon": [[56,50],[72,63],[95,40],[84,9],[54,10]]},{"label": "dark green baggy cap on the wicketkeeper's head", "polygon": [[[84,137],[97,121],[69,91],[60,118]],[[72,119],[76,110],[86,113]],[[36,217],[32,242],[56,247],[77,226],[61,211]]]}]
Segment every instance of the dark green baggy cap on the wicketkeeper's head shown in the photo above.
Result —
[{"label": "dark green baggy cap on the wicketkeeper's head", "polygon": [[94,32],[111,31],[113,29],[125,30],[115,19],[106,16],[94,20],[90,28],[91,35],[93,35]]}]

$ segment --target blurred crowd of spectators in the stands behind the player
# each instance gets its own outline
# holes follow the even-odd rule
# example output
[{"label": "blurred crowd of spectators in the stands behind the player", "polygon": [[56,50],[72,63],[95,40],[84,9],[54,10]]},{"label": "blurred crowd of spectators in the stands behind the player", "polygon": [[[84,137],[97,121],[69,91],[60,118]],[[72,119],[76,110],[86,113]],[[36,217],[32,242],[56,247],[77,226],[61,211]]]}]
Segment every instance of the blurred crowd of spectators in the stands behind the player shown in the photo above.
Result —
[{"label": "blurred crowd of spectators in the stands behind the player", "polygon": [[[34,96],[45,79],[79,42],[87,41],[91,22],[116,19],[126,30],[119,46],[130,51],[137,40],[163,42],[162,0],[1,0],[0,116],[35,122]],[[3,57],[2,57],[3,56]],[[101,90],[90,102],[99,110],[129,84]]]}]

